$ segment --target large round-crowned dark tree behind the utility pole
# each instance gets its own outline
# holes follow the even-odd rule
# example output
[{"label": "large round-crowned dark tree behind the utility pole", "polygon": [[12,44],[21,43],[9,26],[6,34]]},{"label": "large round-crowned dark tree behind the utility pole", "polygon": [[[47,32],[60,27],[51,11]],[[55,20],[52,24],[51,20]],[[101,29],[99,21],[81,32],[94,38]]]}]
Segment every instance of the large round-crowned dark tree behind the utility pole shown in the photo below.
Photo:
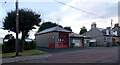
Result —
[{"label": "large round-crowned dark tree behind the utility pole", "polygon": [[[24,51],[24,41],[28,37],[28,32],[35,29],[35,25],[39,26],[41,22],[40,15],[32,10],[20,9],[19,10],[19,32],[22,33],[22,51]],[[3,22],[3,29],[16,32],[16,11],[7,13]]]}]

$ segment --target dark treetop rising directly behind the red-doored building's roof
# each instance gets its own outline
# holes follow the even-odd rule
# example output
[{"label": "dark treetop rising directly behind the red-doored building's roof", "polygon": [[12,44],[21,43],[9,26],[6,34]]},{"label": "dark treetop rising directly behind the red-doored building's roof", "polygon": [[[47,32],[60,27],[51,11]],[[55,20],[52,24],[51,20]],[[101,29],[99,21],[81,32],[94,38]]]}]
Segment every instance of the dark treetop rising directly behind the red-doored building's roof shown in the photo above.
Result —
[{"label": "dark treetop rising directly behind the red-doored building's roof", "polygon": [[51,28],[51,27],[55,27],[55,26],[62,27],[61,25],[58,25],[58,24],[52,23],[52,22],[42,23],[42,24],[40,25],[40,28],[39,28],[38,32],[41,32],[41,31],[43,31],[43,30],[45,30],[45,29],[48,29],[48,28]]}]

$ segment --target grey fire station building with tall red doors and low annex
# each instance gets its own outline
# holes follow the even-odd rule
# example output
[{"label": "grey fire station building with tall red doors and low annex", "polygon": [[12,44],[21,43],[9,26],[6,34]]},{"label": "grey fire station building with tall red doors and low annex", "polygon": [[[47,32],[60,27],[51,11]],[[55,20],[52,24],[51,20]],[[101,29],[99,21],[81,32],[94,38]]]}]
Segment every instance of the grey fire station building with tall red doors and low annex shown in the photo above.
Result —
[{"label": "grey fire station building with tall red doors and low annex", "polygon": [[89,46],[90,37],[81,36],[61,27],[52,27],[35,34],[37,47],[69,48]]}]

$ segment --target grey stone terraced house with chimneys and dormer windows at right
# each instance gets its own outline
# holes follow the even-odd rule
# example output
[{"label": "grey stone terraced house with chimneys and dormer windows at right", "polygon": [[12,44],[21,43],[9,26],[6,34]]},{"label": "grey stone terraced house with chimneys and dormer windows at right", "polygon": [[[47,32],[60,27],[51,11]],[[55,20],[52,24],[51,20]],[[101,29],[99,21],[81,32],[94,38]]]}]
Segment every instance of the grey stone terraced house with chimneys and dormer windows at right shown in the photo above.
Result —
[{"label": "grey stone terraced house with chimneys and dormer windows at right", "polygon": [[89,46],[106,46],[108,42],[120,42],[119,34],[120,27],[118,24],[115,24],[113,29],[111,29],[111,27],[104,29],[98,28],[97,24],[94,22],[91,25],[91,29],[83,35],[91,37]]}]

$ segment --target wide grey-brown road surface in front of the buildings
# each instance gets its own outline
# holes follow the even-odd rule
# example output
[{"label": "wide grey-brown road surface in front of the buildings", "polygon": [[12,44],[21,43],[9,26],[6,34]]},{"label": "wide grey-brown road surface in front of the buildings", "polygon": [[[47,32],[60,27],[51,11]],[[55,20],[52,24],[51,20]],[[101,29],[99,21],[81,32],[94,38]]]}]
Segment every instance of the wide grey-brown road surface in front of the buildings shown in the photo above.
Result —
[{"label": "wide grey-brown road surface in front of the buildings", "polygon": [[[48,51],[48,50],[47,50]],[[58,52],[60,51],[60,52]],[[50,57],[18,63],[117,63],[118,47],[94,47],[85,49],[57,49],[48,51]]]}]

